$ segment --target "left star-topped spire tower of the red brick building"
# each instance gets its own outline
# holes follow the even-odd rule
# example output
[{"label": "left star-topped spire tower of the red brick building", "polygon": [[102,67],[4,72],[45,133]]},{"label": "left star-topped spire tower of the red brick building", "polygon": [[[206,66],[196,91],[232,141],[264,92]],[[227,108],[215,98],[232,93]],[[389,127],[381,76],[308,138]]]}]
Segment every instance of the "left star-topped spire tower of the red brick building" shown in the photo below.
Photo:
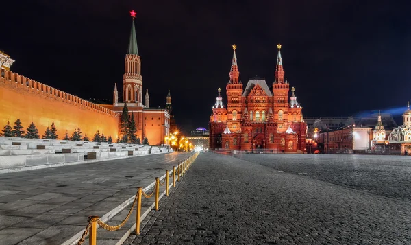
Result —
[{"label": "left star-topped spire tower of the red brick building", "polygon": [[[229,82],[225,87],[227,93],[227,116],[229,121],[229,128],[233,128],[237,124],[237,121],[241,119],[242,115],[242,83],[239,79],[240,71],[238,71],[236,49],[237,46],[233,45],[233,58],[232,65],[229,71]],[[240,129],[240,123],[235,126],[235,128]],[[234,132],[236,131],[234,128]]]}]

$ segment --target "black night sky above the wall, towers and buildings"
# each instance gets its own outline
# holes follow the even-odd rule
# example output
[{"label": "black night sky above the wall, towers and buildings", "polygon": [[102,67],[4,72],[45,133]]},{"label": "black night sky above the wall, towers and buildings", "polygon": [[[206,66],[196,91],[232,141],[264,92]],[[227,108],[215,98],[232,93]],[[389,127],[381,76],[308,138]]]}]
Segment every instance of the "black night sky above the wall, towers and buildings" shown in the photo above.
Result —
[{"label": "black night sky above the wall, towers and buildings", "polygon": [[281,43],[303,115],[349,116],[411,100],[411,6],[393,2],[5,1],[0,49],[16,73],[112,100],[135,10],[143,89],[155,107],[170,89],[186,132],[208,127],[219,87],[225,97],[234,43],[244,86],[256,75],[271,86]]}]

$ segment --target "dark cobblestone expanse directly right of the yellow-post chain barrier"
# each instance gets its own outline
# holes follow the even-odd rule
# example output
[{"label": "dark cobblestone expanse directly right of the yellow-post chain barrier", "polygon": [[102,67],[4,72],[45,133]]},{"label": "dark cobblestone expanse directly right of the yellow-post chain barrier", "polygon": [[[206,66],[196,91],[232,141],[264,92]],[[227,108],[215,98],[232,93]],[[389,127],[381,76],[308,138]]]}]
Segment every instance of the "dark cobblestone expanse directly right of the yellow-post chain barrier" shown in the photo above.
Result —
[{"label": "dark cobblestone expanse directly right of the yellow-post chain barrier", "polygon": [[[302,156],[257,157],[298,165]],[[202,153],[142,234],[125,244],[411,244],[410,207],[406,199]]]}]

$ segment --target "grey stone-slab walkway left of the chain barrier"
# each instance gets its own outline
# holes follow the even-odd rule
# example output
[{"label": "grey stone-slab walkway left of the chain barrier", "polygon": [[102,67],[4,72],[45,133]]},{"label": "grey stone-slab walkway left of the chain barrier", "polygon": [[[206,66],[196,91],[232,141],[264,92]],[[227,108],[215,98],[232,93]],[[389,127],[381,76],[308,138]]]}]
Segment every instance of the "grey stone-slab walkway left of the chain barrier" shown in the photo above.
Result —
[{"label": "grey stone-slab walkway left of the chain barrier", "polygon": [[0,244],[62,244],[188,154],[127,159],[0,174]]}]

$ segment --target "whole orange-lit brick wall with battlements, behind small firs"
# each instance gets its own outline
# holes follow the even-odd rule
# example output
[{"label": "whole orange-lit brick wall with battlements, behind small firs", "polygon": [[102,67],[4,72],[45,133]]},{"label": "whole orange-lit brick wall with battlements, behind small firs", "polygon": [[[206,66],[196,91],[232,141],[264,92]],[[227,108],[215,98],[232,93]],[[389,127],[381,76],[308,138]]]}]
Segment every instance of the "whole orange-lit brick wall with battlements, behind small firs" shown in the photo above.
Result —
[{"label": "whole orange-lit brick wall with battlements, behind small firs", "polygon": [[113,140],[119,132],[119,116],[112,110],[1,69],[0,129],[7,121],[13,125],[18,118],[24,129],[33,121],[40,136],[54,121],[59,139],[64,137],[66,130],[71,135],[78,127],[90,140],[97,130],[111,135]]}]

